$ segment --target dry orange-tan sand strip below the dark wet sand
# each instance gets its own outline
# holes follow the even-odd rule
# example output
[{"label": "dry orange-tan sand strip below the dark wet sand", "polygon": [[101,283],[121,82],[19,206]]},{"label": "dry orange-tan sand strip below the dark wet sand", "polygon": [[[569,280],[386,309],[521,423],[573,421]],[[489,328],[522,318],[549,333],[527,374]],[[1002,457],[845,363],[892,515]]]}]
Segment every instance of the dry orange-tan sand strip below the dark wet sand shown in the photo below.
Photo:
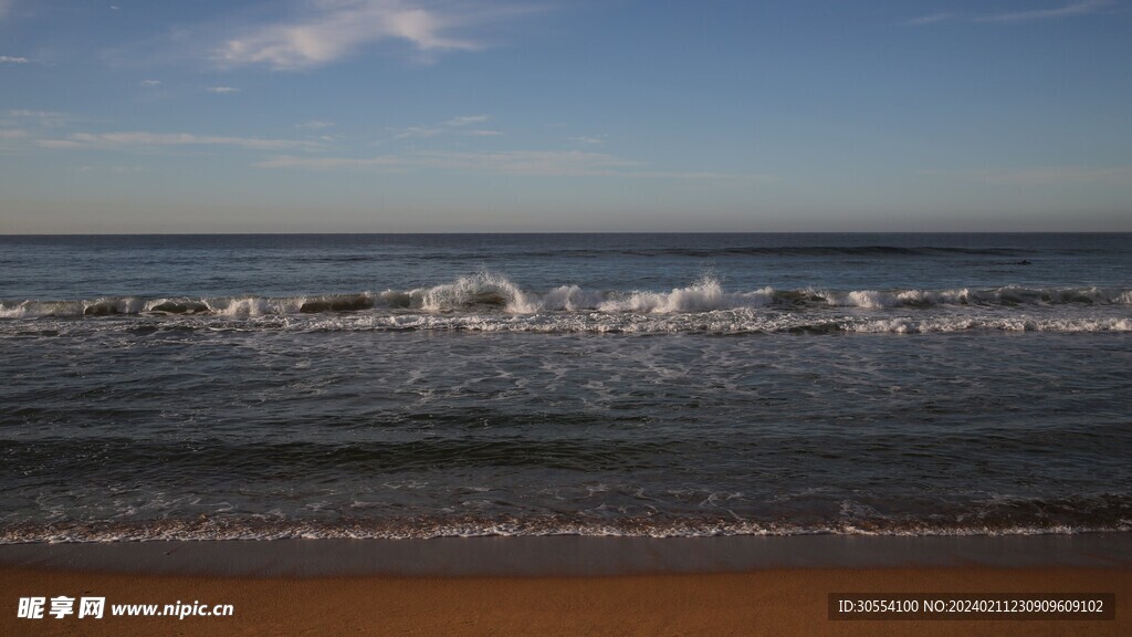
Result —
[{"label": "dry orange-tan sand strip below the dark wet sand", "polygon": [[[830,593],[1114,593],[1112,621],[832,621]],[[234,617],[18,619],[23,596]],[[0,635],[1132,635],[1132,569],[761,569],[616,577],[188,577],[0,568]],[[49,602],[50,606],[50,602]]]}]

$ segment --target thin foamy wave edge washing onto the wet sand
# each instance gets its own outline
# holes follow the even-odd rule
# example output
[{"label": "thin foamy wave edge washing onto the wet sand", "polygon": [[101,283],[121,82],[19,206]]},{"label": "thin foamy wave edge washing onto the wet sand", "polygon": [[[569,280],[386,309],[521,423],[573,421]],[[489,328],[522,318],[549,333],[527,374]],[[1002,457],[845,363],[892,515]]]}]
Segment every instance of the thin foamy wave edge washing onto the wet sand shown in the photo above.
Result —
[{"label": "thin foamy wave edge washing onto the wet sand", "polygon": [[[1072,509],[1069,504],[1054,507]],[[283,516],[208,517],[138,521],[61,521],[0,527],[0,544],[147,542],[168,540],[428,540],[435,537],[723,537],[723,536],[1009,536],[1132,532],[1132,521],[1112,510],[1066,519],[1056,515],[1019,516],[1017,511],[972,513],[970,520],[894,517],[795,524],[736,517],[626,517],[612,520],[548,516],[418,516],[409,519],[303,520]]]}]

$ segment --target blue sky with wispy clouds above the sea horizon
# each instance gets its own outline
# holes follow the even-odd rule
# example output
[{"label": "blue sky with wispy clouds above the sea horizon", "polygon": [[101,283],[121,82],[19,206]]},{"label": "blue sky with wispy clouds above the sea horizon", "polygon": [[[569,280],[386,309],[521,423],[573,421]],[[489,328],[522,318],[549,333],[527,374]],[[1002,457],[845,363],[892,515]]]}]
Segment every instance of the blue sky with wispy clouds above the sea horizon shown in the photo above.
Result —
[{"label": "blue sky with wispy clouds above the sea horizon", "polygon": [[0,0],[0,233],[1132,231],[1132,0]]}]

